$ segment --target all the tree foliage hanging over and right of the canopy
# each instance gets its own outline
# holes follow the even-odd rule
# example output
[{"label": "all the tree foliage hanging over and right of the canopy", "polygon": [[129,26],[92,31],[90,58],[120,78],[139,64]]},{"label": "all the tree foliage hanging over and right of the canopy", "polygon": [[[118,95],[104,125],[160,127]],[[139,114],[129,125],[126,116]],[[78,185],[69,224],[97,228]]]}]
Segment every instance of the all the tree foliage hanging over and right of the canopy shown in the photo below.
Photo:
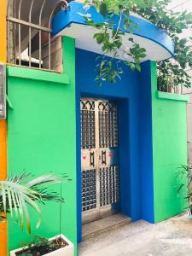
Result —
[{"label": "all the tree foliage hanging over and right of the canopy", "polygon": [[[96,81],[100,84],[106,80],[115,83],[124,73],[122,63],[131,67],[131,70],[140,71],[140,62],[145,57],[146,50],[133,38],[129,38],[128,48],[125,48],[123,41],[126,30],[130,33],[137,31],[137,24],[133,24],[130,19],[130,12],[133,11],[165,30],[175,44],[174,58],[158,63],[158,84],[161,90],[172,84],[190,86],[190,76],[186,69],[192,67],[191,38],[183,38],[182,33],[191,28],[192,14],[168,9],[171,2],[172,0],[85,0],[84,17],[90,26],[98,29],[94,38],[102,46],[102,55],[96,59]],[[96,7],[105,18],[104,22],[94,23],[91,20],[90,6]],[[121,61],[114,61],[119,57]]]}]

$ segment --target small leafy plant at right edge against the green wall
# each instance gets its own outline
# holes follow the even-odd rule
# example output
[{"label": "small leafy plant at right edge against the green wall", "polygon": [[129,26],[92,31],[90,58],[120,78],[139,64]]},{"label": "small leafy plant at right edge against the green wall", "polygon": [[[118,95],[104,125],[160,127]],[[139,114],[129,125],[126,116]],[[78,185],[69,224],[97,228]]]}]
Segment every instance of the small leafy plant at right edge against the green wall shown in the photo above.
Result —
[{"label": "small leafy plant at right edge against the green wall", "polygon": [[185,199],[188,201],[188,209],[192,215],[192,165],[181,166],[177,172],[177,177],[179,177],[182,181],[177,192],[179,193],[183,189],[186,190],[187,194]]}]

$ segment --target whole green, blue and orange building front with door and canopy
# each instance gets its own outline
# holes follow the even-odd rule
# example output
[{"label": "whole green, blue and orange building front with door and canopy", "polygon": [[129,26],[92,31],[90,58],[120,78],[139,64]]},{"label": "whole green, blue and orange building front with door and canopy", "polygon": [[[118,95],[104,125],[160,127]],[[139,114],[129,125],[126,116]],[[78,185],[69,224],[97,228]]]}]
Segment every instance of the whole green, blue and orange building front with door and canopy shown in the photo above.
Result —
[{"label": "whole green, blue and orange building front with door and canopy", "polygon": [[[49,237],[61,231],[73,241],[77,254],[82,224],[87,221],[122,212],[133,222],[143,218],[157,223],[183,212],[186,191],[177,193],[181,181],[176,174],[179,166],[187,164],[189,98],[157,90],[155,63],[174,55],[171,38],[133,15],[139,24],[133,37],[147,49],[142,71],[122,66],[125,74],[117,84],[100,87],[95,68],[101,49],[92,38],[93,28],[79,15],[84,11],[82,3],[69,3],[69,8],[62,7],[56,14],[53,10],[59,5],[46,7],[42,20],[49,12],[51,26],[42,21],[38,39],[33,30],[22,30],[23,3],[20,15],[14,17],[19,42],[14,45],[16,41],[9,39],[14,58],[6,40],[13,17],[8,15],[7,25],[7,3],[0,3],[0,60],[7,76],[7,119],[0,121],[0,177],[26,170],[35,176],[66,173],[71,179],[55,187],[65,203],[42,207],[42,224],[32,233]],[[33,15],[37,9],[34,6]],[[96,9],[90,12],[102,21]],[[27,22],[33,29],[32,16]],[[30,42],[26,42],[28,32]],[[9,219],[9,227],[3,224],[0,233],[1,255],[29,238]]]}]

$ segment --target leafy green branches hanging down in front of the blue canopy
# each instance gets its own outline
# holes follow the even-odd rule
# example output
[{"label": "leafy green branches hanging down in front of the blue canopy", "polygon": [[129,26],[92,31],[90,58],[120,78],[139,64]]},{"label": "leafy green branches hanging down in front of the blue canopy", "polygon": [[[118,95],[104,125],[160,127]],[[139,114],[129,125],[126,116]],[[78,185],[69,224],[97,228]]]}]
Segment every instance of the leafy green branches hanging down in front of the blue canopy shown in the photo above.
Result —
[{"label": "leafy green branches hanging down in front of the blue canopy", "polygon": [[[96,59],[96,81],[100,84],[103,81],[115,83],[124,73],[124,65],[130,67],[131,70],[141,70],[140,61],[146,56],[146,50],[141,48],[133,38],[128,39],[129,48],[125,48],[123,44],[125,30],[130,29],[133,33],[137,29],[137,24],[130,20],[130,10],[135,4],[141,7],[146,6],[143,0],[85,0],[84,2],[84,19],[87,24],[97,28],[98,32],[95,33],[94,38],[96,43],[102,47],[102,55]],[[96,7],[105,19],[104,22],[95,23],[91,20],[90,6]],[[113,20],[116,15],[119,18],[114,25]],[[123,53],[124,59],[115,61],[119,59],[119,53]]]}]

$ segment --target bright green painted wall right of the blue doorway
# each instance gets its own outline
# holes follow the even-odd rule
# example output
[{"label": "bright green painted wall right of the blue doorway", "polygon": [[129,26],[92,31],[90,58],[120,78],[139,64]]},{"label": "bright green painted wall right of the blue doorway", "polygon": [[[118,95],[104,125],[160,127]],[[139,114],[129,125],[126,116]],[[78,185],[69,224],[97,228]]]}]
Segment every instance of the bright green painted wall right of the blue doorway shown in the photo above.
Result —
[{"label": "bright green painted wall right of the blue doorway", "polygon": [[158,95],[156,65],[152,68],[152,114],[154,159],[154,221],[183,212],[186,191],[177,193],[178,168],[187,165],[186,97]]}]

